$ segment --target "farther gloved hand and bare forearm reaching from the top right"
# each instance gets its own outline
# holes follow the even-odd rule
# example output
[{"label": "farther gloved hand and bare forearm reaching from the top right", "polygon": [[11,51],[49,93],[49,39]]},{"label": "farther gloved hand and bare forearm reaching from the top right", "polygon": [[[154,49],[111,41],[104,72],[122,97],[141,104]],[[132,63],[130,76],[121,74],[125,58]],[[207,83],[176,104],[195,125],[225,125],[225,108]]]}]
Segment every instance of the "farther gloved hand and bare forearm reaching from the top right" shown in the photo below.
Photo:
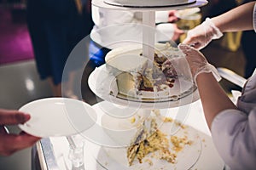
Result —
[{"label": "farther gloved hand and bare forearm reaching from the top right", "polygon": [[253,30],[253,8],[255,2],[245,3],[212,19],[207,18],[200,26],[188,31],[183,43],[201,49],[222,32]]}]

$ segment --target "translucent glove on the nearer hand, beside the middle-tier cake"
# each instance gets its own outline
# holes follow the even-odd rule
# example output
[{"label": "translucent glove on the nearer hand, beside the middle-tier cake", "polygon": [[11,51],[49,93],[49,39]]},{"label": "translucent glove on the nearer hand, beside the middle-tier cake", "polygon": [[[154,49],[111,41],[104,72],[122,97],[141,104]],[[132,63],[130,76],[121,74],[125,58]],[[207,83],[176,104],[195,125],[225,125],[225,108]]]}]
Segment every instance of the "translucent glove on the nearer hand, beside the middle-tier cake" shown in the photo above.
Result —
[{"label": "translucent glove on the nearer hand, beside the middle-tier cake", "polygon": [[218,82],[221,80],[217,69],[207,62],[207,59],[200,51],[185,44],[179,44],[177,47],[186,55],[195,84],[196,77],[203,72],[212,72]]}]

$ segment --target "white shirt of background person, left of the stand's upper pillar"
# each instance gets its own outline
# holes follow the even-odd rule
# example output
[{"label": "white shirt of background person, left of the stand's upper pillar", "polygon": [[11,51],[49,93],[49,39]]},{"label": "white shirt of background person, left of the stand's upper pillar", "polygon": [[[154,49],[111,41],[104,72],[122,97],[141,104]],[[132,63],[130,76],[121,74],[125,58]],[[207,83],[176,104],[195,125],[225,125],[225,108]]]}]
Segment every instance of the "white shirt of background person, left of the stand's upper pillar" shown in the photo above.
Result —
[{"label": "white shirt of background person, left of the stand's upper pillar", "polygon": [[95,23],[90,38],[106,48],[118,48],[120,42],[142,42],[142,20],[131,11],[110,10],[92,6]]}]

